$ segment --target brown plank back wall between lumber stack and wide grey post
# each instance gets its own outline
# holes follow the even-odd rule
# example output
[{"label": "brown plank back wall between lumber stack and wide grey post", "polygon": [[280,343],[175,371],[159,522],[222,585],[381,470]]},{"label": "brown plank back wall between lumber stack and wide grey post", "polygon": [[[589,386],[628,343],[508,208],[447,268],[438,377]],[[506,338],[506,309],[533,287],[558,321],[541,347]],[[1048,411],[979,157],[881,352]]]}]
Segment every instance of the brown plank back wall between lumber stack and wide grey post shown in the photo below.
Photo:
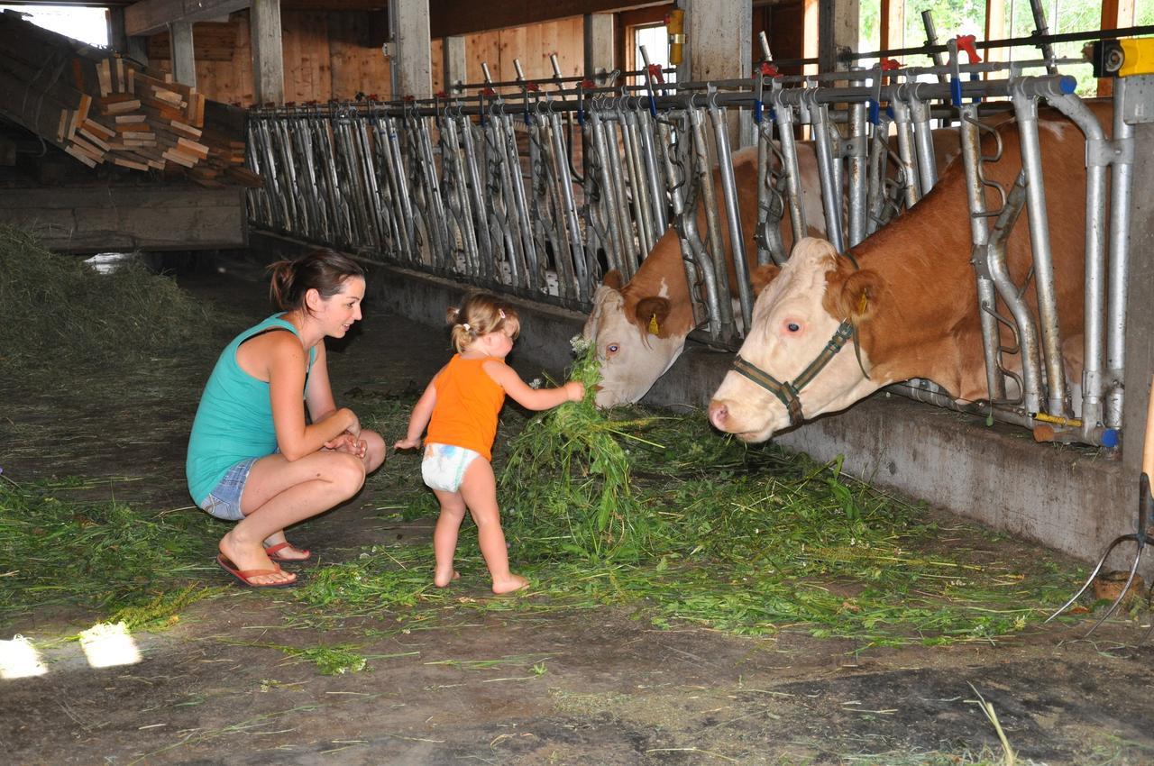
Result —
[{"label": "brown plank back wall between lumber stack and wide grey post", "polygon": [[[352,99],[358,92],[388,98],[389,60],[381,53],[388,30],[383,12],[282,12],[285,100]],[[253,104],[253,46],[248,12],[225,23],[193,25],[196,89],[208,98]],[[149,63],[172,70],[168,33],[149,40]]]}]

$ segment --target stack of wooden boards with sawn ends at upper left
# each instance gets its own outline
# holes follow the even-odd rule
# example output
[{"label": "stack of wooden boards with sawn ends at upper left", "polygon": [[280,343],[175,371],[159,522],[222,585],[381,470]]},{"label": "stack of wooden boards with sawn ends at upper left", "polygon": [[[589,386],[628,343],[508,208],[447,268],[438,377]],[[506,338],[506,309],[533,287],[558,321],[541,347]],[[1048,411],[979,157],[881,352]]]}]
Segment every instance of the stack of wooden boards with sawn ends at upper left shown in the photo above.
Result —
[{"label": "stack of wooden boards with sawn ends at upper left", "polygon": [[167,73],[0,13],[0,115],[89,167],[177,170],[203,186],[258,181],[243,167],[243,128],[207,120],[205,104]]}]

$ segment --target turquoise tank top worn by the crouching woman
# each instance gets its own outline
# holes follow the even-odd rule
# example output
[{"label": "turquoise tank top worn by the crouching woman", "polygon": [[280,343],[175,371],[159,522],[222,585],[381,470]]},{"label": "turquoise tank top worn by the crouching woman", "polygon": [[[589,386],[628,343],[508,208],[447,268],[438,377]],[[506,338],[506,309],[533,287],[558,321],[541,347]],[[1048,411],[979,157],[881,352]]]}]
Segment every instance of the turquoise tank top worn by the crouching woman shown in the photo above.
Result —
[{"label": "turquoise tank top worn by the crouching woman", "polygon": [[[249,338],[270,329],[283,328],[299,338],[297,328],[282,316],[283,314],[273,314],[233,338],[220,352],[209,382],[204,384],[185,461],[188,491],[196,503],[203,501],[220,483],[228,468],[247,458],[272,455],[277,449],[269,384],[240,368],[237,363],[237,350]],[[305,373],[306,391],[308,373],[312,371],[315,359],[316,348],[309,348],[308,370]]]}]

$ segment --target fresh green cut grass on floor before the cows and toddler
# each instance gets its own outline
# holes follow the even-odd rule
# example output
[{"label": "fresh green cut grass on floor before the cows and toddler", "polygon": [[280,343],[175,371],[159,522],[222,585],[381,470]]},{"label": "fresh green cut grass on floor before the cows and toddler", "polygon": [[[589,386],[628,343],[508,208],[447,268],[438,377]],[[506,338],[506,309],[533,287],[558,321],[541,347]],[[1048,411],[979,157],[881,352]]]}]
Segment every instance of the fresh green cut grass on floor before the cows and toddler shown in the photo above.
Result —
[{"label": "fresh green cut grass on floor before the cows and toddler", "polygon": [[[578,380],[582,365],[587,356]],[[419,464],[409,459],[409,470]],[[943,527],[924,508],[847,476],[840,459],[748,446],[717,436],[700,415],[571,403],[499,436],[496,465],[510,561],[532,578],[531,594],[459,598],[467,586],[433,587],[429,546],[377,545],[294,592],[308,619],[400,611],[394,630],[412,630],[463,610],[615,604],[658,628],[935,645],[1036,624],[1078,577],[1044,556],[999,558],[979,528]],[[425,495],[410,493],[400,515],[428,516]],[[457,551],[463,581],[486,584],[472,530]]]}]

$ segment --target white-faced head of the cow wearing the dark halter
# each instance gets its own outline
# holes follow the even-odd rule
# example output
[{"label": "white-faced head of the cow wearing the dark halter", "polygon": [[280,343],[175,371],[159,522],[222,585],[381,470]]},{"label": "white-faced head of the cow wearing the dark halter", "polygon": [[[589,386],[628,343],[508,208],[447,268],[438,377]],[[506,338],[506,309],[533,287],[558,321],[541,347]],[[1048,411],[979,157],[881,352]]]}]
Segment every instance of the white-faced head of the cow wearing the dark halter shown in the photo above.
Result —
[{"label": "white-faced head of the cow wearing the dark halter", "polygon": [[[835,338],[844,320],[860,333],[877,309],[879,280],[872,271],[859,271],[825,240],[807,238],[754,305],[754,320],[739,356],[770,380],[795,383]],[[844,333],[845,337],[845,333]],[[889,381],[868,380],[865,348],[861,363],[854,339],[832,355],[801,386],[801,412],[805,418],[844,410]],[[755,374],[756,376],[756,374]],[[787,397],[788,398],[788,397]],[[737,371],[726,374],[710,401],[710,421],[745,442],[764,442],[790,425],[786,405],[773,392]]]}]

